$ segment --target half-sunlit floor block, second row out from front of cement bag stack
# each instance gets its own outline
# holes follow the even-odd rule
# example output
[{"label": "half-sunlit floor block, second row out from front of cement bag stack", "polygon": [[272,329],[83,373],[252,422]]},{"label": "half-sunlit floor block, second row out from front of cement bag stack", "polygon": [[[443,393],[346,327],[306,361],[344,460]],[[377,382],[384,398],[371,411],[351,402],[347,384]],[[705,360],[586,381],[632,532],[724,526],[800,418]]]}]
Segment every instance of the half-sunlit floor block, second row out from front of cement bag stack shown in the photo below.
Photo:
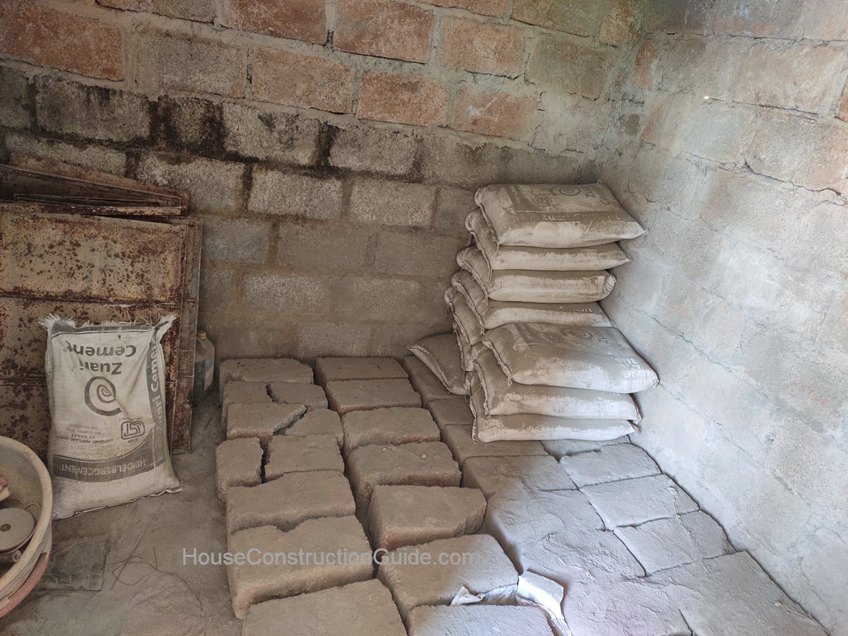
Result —
[{"label": "half-sunlit floor block, second row out from front of cement bag stack", "polygon": [[462,465],[462,485],[480,488],[486,499],[516,482],[541,491],[577,488],[550,455],[469,457]]}]

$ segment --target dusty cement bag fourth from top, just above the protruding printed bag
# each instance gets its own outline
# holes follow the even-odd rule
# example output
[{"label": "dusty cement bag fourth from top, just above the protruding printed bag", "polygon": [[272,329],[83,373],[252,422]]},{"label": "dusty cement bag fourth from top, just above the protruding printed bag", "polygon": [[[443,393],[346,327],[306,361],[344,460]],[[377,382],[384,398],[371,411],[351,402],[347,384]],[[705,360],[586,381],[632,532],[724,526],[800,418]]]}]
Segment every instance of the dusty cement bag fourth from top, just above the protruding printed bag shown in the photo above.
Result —
[{"label": "dusty cement bag fourth from top, just above the protruding printed bag", "polygon": [[542,322],[564,326],[611,326],[609,317],[597,303],[510,303],[492,300],[471,272],[460,270],[451,285],[466,299],[466,304],[484,329],[510,322]]}]

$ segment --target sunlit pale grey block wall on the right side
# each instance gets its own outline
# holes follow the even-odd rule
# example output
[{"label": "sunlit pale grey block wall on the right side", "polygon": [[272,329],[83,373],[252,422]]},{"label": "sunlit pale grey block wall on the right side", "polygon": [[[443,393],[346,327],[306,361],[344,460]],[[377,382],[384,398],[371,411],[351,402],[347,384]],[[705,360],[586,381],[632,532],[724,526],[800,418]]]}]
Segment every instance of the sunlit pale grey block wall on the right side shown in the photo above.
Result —
[{"label": "sunlit pale grey block wall on the right side", "polygon": [[848,5],[653,3],[600,176],[650,234],[604,307],[635,441],[848,634]]}]

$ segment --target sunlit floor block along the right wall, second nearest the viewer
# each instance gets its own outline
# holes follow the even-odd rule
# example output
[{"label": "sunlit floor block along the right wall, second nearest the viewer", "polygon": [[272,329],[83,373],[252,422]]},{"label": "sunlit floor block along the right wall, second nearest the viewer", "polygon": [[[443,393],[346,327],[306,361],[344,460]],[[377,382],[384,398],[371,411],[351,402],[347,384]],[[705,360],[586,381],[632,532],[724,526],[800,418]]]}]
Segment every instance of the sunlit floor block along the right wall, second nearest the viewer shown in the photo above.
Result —
[{"label": "sunlit floor block along the right wall, second nearest the viewer", "polygon": [[722,527],[700,510],[641,526],[616,527],[614,532],[649,575],[736,551]]}]

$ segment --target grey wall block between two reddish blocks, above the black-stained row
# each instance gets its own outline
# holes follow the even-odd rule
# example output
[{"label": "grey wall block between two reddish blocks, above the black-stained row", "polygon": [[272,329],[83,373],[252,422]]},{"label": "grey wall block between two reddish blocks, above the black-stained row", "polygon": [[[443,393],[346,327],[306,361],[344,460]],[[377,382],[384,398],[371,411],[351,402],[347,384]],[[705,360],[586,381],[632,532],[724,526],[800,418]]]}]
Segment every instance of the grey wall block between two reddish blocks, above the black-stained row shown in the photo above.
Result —
[{"label": "grey wall block between two reddish blocks, above the black-stained row", "polygon": [[146,31],[138,36],[137,55],[137,83],[144,90],[244,97],[248,55],[242,47]]}]

